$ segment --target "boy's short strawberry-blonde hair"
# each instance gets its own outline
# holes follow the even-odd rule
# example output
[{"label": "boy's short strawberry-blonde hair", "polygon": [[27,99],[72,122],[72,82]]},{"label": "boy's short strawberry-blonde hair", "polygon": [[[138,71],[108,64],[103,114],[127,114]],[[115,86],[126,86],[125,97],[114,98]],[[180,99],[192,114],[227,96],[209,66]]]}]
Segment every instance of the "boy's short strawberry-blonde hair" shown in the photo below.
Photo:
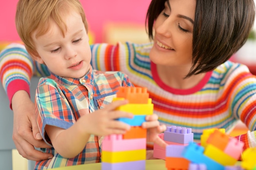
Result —
[{"label": "boy's short strawberry-blonde hair", "polygon": [[32,33],[37,31],[36,38],[44,35],[49,31],[51,21],[58,24],[65,37],[67,26],[62,15],[70,9],[80,13],[88,33],[88,24],[79,0],[19,0],[16,9],[16,29],[28,53],[37,54]]}]

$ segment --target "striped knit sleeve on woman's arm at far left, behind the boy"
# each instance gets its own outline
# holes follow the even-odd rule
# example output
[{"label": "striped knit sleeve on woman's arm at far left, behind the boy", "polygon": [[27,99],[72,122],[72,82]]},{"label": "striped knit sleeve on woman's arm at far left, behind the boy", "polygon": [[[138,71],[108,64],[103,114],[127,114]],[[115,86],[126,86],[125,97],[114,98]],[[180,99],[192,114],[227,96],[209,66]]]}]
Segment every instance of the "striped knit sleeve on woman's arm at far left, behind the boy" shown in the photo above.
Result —
[{"label": "striped knit sleeve on woman's arm at far left, behind the boy", "polygon": [[9,98],[10,108],[14,93],[24,90],[29,94],[33,74],[44,76],[49,75],[49,71],[45,65],[33,62],[23,44],[13,43],[1,51],[0,79]]}]

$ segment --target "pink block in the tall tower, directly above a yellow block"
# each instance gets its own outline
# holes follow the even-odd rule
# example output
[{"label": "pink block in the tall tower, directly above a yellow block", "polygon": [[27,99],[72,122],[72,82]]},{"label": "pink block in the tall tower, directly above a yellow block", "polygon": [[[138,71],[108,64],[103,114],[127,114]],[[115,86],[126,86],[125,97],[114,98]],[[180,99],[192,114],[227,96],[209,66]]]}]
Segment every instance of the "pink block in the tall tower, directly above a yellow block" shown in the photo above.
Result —
[{"label": "pink block in the tall tower, directly above a yellow block", "polygon": [[123,135],[108,135],[102,141],[102,150],[127,151],[146,149],[146,138],[123,139]]}]

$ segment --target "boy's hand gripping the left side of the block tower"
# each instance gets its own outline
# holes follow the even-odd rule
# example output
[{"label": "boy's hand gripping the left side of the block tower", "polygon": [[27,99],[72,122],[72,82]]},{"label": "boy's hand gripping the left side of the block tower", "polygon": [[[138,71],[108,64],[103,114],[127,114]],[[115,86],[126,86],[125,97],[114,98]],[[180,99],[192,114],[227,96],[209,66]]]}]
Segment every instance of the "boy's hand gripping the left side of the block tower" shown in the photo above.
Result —
[{"label": "boy's hand gripping the left side of the block tower", "polygon": [[86,131],[95,135],[124,134],[130,129],[130,125],[115,119],[120,117],[132,118],[133,114],[115,109],[127,103],[127,100],[115,101],[106,108],[85,115]]}]

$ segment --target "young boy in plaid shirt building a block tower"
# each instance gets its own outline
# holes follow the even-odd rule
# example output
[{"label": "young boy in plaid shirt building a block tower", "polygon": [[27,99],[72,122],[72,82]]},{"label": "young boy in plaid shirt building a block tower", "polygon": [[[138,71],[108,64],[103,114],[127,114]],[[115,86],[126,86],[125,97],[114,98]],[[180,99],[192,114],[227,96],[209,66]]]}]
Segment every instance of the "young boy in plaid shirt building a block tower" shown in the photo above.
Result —
[{"label": "young boy in plaid shirt building a block tower", "polygon": [[[92,70],[88,26],[79,0],[19,0],[16,27],[31,57],[47,65],[48,78],[36,89],[36,119],[52,159],[36,162],[36,170],[57,168],[101,159],[101,135],[122,134],[130,128],[116,121],[132,118],[115,111],[126,101],[112,103],[121,86],[132,86],[120,72]],[[101,109],[102,108],[102,109]],[[146,117],[148,140],[164,142],[157,133],[156,115]]]}]

